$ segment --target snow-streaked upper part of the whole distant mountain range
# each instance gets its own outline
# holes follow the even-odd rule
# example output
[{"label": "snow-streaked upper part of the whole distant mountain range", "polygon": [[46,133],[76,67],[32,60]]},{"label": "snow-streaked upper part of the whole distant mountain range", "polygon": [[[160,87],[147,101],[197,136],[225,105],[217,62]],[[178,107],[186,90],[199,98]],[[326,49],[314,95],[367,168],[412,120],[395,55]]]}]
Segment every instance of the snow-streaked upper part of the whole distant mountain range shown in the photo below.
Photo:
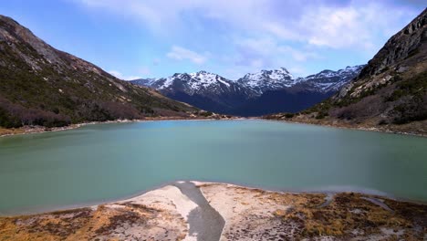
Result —
[{"label": "snow-streaked upper part of the whole distant mountain range", "polygon": [[359,75],[363,65],[333,70],[323,70],[305,78],[294,77],[286,68],[261,70],[246,74],[236,81],[225,79],[206,71],[176,73],[162,79],[136,79],[132,82],[158,89],[162,92],[182,91],[188,95],[244,94],[248,99],[261,96],[268,90],[298,88],[318,92],[338,91],[350,79]]}]

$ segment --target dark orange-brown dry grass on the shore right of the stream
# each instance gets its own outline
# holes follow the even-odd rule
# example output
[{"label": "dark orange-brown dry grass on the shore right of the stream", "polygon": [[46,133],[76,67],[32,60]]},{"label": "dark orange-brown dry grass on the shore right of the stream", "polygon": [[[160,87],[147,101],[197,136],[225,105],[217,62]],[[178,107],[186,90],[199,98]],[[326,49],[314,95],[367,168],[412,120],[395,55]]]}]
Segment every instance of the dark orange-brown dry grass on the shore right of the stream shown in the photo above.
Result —
[{"label": "dark orange-brown dry grass on the shore right of the stream", "polygon": [[[406,239],[422,239],[426,233],[427,206],[386,200],[393,212],[363,199],[362,194],[337,194],[325,207],[318,208],[319,196],[292,200],[287,212],[277,210],[277,216],[303,226],[300,237],[336,236],[350,238],[355,230],[363,236],[381,235],[381,229],[404,230]],[[278,197],[280,199],[281,197]],[[417,227],[417,228],[414,228]]]}]

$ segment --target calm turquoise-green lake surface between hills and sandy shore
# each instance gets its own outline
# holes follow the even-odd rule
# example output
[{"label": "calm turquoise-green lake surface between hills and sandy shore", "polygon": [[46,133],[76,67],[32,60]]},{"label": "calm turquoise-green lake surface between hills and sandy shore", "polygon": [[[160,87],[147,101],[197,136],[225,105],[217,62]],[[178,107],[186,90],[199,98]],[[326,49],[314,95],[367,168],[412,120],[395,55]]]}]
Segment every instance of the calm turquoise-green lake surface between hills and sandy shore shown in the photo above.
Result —
[{"label": "calm turquoise-green lake surface between hills and sandy shore", "polygon": [[0,138],[0,215],[178,180],[427,201],[427,138],[276,121],[146,121]]}]

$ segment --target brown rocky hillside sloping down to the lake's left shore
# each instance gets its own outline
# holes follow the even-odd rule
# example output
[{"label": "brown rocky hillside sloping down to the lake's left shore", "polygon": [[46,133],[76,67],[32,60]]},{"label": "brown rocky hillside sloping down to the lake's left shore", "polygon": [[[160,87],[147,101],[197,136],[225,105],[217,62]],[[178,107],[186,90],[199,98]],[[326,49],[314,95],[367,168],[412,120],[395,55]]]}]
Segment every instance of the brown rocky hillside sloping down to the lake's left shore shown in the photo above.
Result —
[{"label": "brown rocky hillside sloping down to the lake's left shore", "polygon": [[195,109],[117,79],[0,16],[0,126],[187,116]]}]

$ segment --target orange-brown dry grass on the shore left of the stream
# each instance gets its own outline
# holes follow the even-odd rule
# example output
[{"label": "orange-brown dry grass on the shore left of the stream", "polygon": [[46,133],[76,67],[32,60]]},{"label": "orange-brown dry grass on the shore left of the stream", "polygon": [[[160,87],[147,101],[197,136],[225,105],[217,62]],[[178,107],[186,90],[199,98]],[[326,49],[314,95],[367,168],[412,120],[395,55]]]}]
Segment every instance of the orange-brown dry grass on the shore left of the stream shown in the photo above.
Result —
[{"label": "orange-brown dry grass on the shore left of the stream", "polygon": [[[160,219],[159,216],[173,225],[182,225],[175,216],[141,204],[99,205],[96,210],[81,208],[42,215],[0,217],[0,240],[122,240],[133,235],[129,232],[132,227],[143,231],[142,236],[151,233],[159,236],[163,234],[157,230],[151,232],[157,227],[149,223]],[[178,230],[169,229],[171,233]]]}]

